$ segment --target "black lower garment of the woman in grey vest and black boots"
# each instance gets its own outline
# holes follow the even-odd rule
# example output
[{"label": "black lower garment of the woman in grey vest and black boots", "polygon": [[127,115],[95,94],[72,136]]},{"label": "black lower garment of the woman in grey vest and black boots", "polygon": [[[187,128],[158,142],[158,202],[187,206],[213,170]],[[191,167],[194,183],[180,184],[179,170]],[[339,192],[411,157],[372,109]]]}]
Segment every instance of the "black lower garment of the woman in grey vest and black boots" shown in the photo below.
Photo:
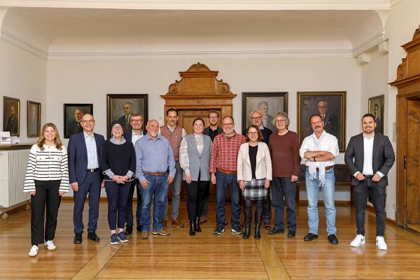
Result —
[{"label": "black lower garment of the woman in grey vest and black boots", "polygon": [[200,181],[199,175],[198,181],[191,181],[191,183],[184,181],[184,186],[188,194],[188,220],[195,220],[196,217],[202,215],[204,194],[209,192],[210,181]]}]

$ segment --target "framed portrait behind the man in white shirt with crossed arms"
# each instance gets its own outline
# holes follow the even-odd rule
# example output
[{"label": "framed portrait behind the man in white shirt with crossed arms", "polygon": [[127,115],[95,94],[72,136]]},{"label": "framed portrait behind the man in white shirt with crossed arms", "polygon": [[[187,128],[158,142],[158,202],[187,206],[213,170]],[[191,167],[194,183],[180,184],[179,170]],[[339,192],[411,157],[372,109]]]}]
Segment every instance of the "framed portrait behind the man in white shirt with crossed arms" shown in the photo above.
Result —
[{"label": "framed portrait behind the man in white shirt with crossed arms", "polygon": [[314,133],[310,116],[321,115],[324,130],[338,140],[339,151],[346,150],[346,92],[297,92],[297,134],[300,143]]}]

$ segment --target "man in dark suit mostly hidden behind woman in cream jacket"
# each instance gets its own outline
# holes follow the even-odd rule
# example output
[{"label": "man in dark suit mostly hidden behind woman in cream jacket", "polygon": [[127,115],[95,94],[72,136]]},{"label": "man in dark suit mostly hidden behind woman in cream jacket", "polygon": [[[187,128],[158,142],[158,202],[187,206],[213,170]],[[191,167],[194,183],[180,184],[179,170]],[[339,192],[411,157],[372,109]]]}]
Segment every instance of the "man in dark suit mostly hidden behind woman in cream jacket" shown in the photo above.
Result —
[{"label": "man in dark suit mostly hidden behind woman in cream jacket", "polygon": [[[268,139],[269,135],[272,134],[272,130],[270,130],[268,127],[265,127],[262,125],[262,113],[258,110],[254,110],[249,114],[249,119],[251,120],[251,123],[253,125],[256,125],[262,134],[262,142],[268,145]],[[242,135],[246,137],[246,127],[242,127],[244,130],[242,130]],[[269,188],[269,191],[271,188]],[[270,195],[268,195],[267,200],[262,203],[262,227],[265,228],[265,230],[271,230],[271,225],[269,225],[271,221],[271,199]],[[242,225],[242,224],[241,224]]]}]

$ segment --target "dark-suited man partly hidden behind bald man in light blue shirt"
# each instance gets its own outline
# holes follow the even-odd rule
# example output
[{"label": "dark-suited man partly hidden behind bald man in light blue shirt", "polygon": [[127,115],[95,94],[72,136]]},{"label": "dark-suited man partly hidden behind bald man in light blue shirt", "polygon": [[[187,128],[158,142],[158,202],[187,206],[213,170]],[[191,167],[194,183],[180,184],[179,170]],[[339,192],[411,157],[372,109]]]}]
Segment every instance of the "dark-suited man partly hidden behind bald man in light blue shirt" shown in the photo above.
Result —
[{"label": "dark-suited man partly hidden behind bald man in light blue shirt", "polygon": [[[132,130],[124,134],[124,139],[127,142],[132,142],[133,146],[136,145],[137,140],[147,134],[146,130],[142,130],[144,124],[144,118],[139,113],[133,113],[130,117],[130,125]],[[141,232],[140,225],[140,209],[141,209],[141,197],[140,190],[137,188],[139,184],[138,179],[132,181],[132,186],[130,188],[130,195],[128,195],[127,209],[125,211],[125,235],[131,235],[133,232],[134,217],[133,217],[133,195],[134,188],[137,190],[137,209],[136,209],[136,221],[137,221],[137,230]]]}]

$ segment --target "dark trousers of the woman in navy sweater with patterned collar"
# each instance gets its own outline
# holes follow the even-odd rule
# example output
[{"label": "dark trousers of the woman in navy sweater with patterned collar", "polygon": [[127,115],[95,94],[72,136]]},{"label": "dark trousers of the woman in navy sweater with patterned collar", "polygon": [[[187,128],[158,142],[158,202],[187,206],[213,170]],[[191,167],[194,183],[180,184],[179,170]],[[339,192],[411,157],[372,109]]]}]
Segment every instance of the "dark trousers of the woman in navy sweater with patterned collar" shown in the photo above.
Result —
[{"label": "dark trousers of the woman in navy sweater with patterned collar", "polygon": [[105,181],[106,199],[108,200],[108,224],[110,230],[124,228],[125,209],[132,182],[118,184],[115,181]]}]

